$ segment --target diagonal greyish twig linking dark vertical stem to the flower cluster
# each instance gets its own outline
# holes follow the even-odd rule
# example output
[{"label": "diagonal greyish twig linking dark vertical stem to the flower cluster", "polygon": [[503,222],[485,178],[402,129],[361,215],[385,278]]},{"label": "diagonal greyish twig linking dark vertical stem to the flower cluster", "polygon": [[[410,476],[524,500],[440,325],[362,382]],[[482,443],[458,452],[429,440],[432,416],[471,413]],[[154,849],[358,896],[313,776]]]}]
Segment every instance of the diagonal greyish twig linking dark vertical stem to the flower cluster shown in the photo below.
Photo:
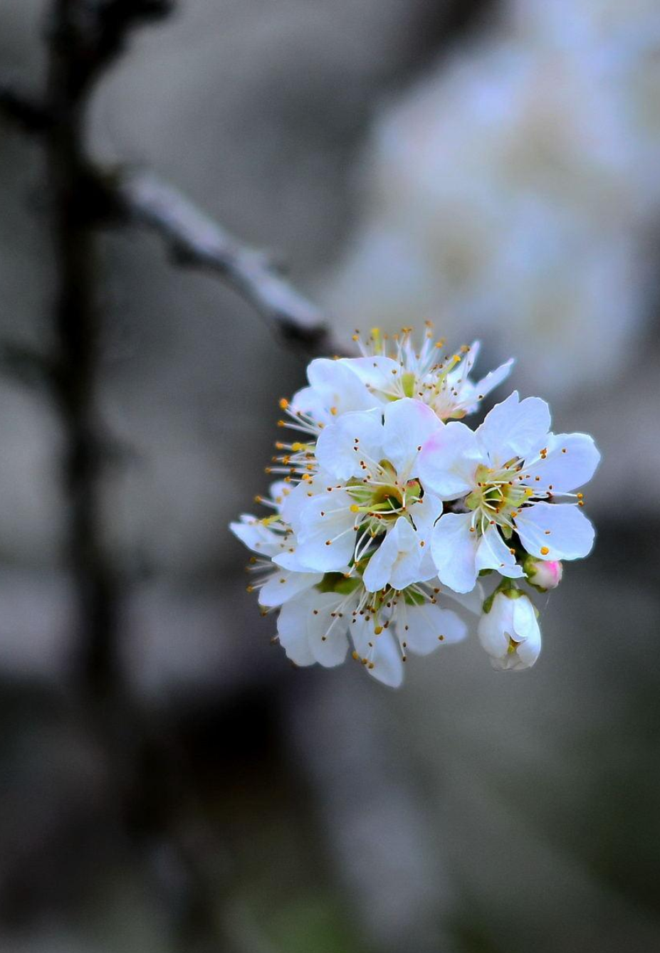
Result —
[{"label": "diagonal greyish twig linking dark vertical stem to the flower cluster", "polygon": [[110,186],[117,211],[158,233],[175,262],[220,275],[286,342],[309,354],[340,354],[319,308],[300,294],[267,254],[241,244],[152,172],[119,174]]}]

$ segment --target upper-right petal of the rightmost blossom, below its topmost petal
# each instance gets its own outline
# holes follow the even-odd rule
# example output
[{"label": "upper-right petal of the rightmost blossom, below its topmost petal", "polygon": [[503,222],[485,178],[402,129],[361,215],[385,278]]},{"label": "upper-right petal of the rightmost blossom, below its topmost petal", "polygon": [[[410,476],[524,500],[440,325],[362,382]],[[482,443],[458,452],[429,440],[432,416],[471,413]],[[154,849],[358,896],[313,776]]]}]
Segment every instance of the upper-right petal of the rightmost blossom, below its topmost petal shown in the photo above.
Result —
[{"label": "upper-right petal of the rightmost blossom, below its topmost petal", "polygon": [[537,457],[526,465],[526,482],[531,486],[551,486],[553,493],[570,493],[591,479],[600,458],[593,437],[588,434],[551,434],[545,459]]}]

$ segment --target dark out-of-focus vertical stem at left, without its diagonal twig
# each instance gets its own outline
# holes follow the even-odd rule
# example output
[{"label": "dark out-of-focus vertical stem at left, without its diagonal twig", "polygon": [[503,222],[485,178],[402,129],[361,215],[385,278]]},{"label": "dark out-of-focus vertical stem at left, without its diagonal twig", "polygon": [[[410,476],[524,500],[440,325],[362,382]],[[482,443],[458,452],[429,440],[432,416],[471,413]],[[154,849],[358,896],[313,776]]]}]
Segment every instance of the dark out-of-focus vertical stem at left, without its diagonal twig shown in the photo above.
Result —
[{"label": "dark out-of-focus vertical stem at left, without its diagonal twig", "polygon": [[168,907],[181,948],[230,953],[217,912],[218,884],[206,870],[202,850],[213,839],[207,831],[195,834],[194,789],[179,779],[180,759],[150,728],[121,663],[124,580],[104,533],[103,482],[112,444],[98,410],[103,320],[95,235],[108,215],[109,195],[99,188],[103,177],[87,156],[86,112],[93,82],[122,50],[128,30],[172,9],[170,0],[51,0],[41,102],[13,84],[0,84],[3,112],[37,133],[44,147],[56,281],[52,353],[10,347],[0,354],[0,365],[23,380],[44,380],[62,425],[67,563],[77,603],[73,697],[113,775],[122,779],[117,795],[126,827],[161,888],[167,884],[150,852],[156,844],[175,858],[180,889]]}]

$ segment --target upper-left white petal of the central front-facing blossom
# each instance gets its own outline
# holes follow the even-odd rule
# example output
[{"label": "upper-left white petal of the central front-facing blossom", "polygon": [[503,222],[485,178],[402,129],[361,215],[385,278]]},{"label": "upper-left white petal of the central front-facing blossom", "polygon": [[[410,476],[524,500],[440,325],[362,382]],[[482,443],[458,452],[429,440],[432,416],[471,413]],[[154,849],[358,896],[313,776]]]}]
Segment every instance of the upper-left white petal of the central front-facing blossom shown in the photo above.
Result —
[{"label": "upper-left white petal of the central front-facing blossom", "polygon": [[321,467],[336,479],[362,476],[361,460],[382,459],[381,413],[344,414],[328,424],[317,443]]}]

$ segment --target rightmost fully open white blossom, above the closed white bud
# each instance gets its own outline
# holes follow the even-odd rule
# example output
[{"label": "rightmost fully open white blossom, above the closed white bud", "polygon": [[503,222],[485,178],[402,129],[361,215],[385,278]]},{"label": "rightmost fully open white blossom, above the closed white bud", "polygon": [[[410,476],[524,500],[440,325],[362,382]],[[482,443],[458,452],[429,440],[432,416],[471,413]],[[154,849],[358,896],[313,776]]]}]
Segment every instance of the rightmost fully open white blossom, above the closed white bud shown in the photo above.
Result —
[{"label": "rightmost fully open white blossom, above the closed white bud", "polygon": [[445,585],[469,592],[485,569],[522,577],[514,533],[536,558],[588,555],[593,527],[581,512],[582,494],[571,491],[593,475],[600,454],[590,436],[554,435],[549,425],[544,400],[521,401],[514,391],[476,431],[449,423],[425,444],[423,485],[464,503],[464,512],[445,513],[433,530],[433,558]]}]

